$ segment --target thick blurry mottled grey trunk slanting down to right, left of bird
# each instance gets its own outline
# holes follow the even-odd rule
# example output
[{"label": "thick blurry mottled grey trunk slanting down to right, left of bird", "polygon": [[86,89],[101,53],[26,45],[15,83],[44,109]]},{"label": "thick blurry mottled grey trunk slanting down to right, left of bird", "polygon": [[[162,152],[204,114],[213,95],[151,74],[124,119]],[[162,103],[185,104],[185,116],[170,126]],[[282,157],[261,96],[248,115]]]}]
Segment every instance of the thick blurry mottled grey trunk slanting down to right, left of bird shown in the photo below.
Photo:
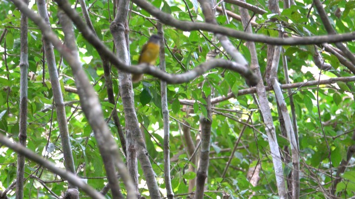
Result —
[{"label": "thick blurry mottled grey trunk slanting down to right, left of bird", "polygon": [[[110,189],[113,192],[113,198],[123,199],[123,195],[120,192],[118,178],[116,177],[115,164],[119,166],[123,165],[120,160],[120,154],[118,152],[118,146],[115,140],[112,137],[111,132],[106,125],[106,122],[103,118],[102,109],[99,103],[99,100],[90,85],[87,76],[82,70],[82,67],[79,66],[79,56],[78,49],[75,42],[75,35],[73,30],[73,24],[71,23],[69,17],[62,11],[58,12],[59,22],[63,27],[64,39],[66,46],[68,47],[68,53],[71,53],[74,58],[75,63],[70,64],[72,71],[75,77],[75,83],[79,89],[80,102],[85,113],[85,116],[94,131],[95,138],[98,142],[99,151],[103,159],[103,163],[106,169],[106,174],[108,181],[110,183]],[[62,54],[63,55],[63,54]],[[63,55],[64,56],[64,55]],[[67,60],[69,62],[69,60]],[[83,87],[87,90],[82,89]],[[123,166],[123,168],[125,168]],[[123,171],[119,171],[122,174]],[[123,174],[122,174],[123,175]],[[127,185],[127,189],[129,185]]]}]

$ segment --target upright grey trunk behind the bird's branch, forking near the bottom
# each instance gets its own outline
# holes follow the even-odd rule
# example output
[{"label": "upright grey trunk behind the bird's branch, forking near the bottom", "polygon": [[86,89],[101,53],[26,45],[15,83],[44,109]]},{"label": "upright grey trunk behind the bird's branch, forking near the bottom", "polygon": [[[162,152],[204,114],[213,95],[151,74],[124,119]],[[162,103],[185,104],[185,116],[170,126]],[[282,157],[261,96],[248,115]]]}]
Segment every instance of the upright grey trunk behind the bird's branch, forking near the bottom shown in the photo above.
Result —
[{"label": "upright grey trunk behind the bird's branch, forking near the bottom", "polygon": [[[72,10],[70,7],[68,7],[68,4],[66,4],[64,7],[66,7],[67,11]],[[116,17],[110,25],[110,31],[114,38],[117,57],[123,61],[124,64],[130,63],[129,41],[128,35],[126,34],[128,33],[126,27],[128,9],[129,0],[119,0]],[[137,160],[139,160],[145,180],[147,181],[150,197],[154,199],[160,199],[155,172],[149,160],[149,154],[144,142],[144,138],[142,136],[142,131],[139,128],[139,123],[135,112],[131,75],[120,71],[118,73],[118,83],[126,124],[127,167],[129,175],[134,181],[134,191],[139,196],[137,163]]]}]

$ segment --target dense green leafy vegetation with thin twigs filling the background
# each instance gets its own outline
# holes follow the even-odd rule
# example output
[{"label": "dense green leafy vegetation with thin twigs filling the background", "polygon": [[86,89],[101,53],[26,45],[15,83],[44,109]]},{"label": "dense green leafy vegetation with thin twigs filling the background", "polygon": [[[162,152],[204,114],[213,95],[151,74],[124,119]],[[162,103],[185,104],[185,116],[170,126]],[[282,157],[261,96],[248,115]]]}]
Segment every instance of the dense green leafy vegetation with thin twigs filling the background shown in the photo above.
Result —
[{"label": "dense green leafy vegetation with thin twigs filling the background", "polygon": [[[133,2],[136,1],[138,0]],[[115,19],[117,10],[122,8],[114,6],[114,2],[89,0],[83,10],[79,1],[70,0],[72,7],[82,19],[84,19],[82,13],[88,11],[98,39],[116,53],[120,46],[114,44],[117,38],[113,37],[113,29],[110,31],[110,25]],[[158,20],[156,16],[133,2],[127,6],[126,34],[124,34],[129,43],[127,57],[130,60],[123,61],[137,65],[142,46],[148,41],[150,35],[158,33]],[[225,0],[216,6],[214,10],[216,22],[229,29],[244,31],[245,27],[237,17],[242,15],[243,18],[245,15],[233,2],[233,0]],[[275,7],[270,8],[270,2],[274,1],[247,1],[248,4],[258,8],[254,9],[254,12],[249,10],[250,16],[255,16],[249,21],[253,33],[284,38],[329,33],[329,30],[324,28],[324,22],[312,0],[294,2],[291,0],[291,6],[284,5],[283,1],[276,1],[279,15]],[[150,3],[178,20],[190,22],[208,20],[196,0],[152,0]],[[36,1],[30,1],[29,7],[36,13],[38,13],[38,6]],[[336,33],[354,33],[354,0],[326,0],[323,6],[330,25]],[[64,41],[65,33],[59,22],[60,16],[57,15],[58,5],[54,1],[47,1],[46,8],[52,31],[61,41]],[[11,1],[0,2],[2,33],[0,37],[0,133],[13,142],[20,141],[20,81],[21,78],[26,77],[28,78],[27,122],[24,124],[27,126],[26,147],[55,163],[57,167],[64,168],[59,117],[56,106],[53,105],[53,88],[43,48],[42,32],[38,25],[28,20],[28,75],[24,74],[21,77],[19,65],[23,51],[20,40],[22,26],[20,16],[21,12]],[[88,18],[86,22],[87,20]],[[168,73],[179,74],[190,71],[210,60],[211,57],[225,60],[234,58],[226,51],[226,47],[220,42],[221,37],[216,33],[204,30],[183,31],[179,27],[172,27],[171,24],[164,25],[164,21],[162,24],[165,38],[165,43],[162,45],[165,47],[165,66]],[[131,123],[128,124],[129,119],[125,118],[124,108],[127,107],[122,101],[123,95],[120,93],[122,85],[118,81],[123,78],[118,77],[118,73],[123,72],[118,71],[114,65],[108,64],[106,60],[111,72],[105,73],[107,66],[103,66],[105,65],[103,59],[106,59],[103,52],[96,50],[92,41],[85,39],[78,26],[75,26],[74,31],[79,61],[97,94],[103,110],[103,118],[115,138],[123,162],[126,163],[126,150],[122,149],[119,133],[122,131],[127,135]],[[237,36],[229,36],[228,39],[248,63],[253,63],[255,52],[250,50],[245,40]],[[255,42],[257,60],[263,78],[263,83],[259,86],[264,85],[267,89],[265,99],[260,98],[256,89],[249,89],[242,75],[225,68],[214,68],[191,81],[166,86],[171,161],[168,170],[170,170],[171,187],[175,198],[188,198],[193,195],[192,192],[195,192],[194,180],[198,178],[197,167],[202,157],[199,155],[199,147],[203,147],[203,143],[198,144],[201,140],[200,125],[203,123],[200,118],[209,118],[209,114],[211,114],[212,124],[210,139],[207,140],[210,141],[210,152],[204,188],[206,198],[285,197],[279,193],[280,187],[277,186],[277,171],[273,161],[282,163],[283,176],[278,177],[286,179],[283,183],[286,184],[289,196],[295,196],[292,194],[295,188],[298,189],[300,198],[354,196],[355,78],[352,73],[355,70],[352,68],[355,66],[355,43],[343,42],[343,46],[348,51],[339,47],[340,43],[320,44],[312,42],[311,39],[309,44],[282,45],[281,55],[277,59],[279,64],[276,65],[278,66],[276,83],[279,83],[283,89],[284,101],[292,121],[292,133],[295,134],[298,144],[293,147],[299,155],[299,187],[292,187],[294,183],[292,171],[295,164],[292,164],[294,156],[291,155],[292,147],[287,136],[289,126],[285,125],[284,121],[287,118],[282,117],[281,110],[284,109],[277,104],[273,91],[275,87],[272,86],[273,80],[270,78],[274,53],[268,55],[270,48],[268,44]],[[65,58],[58,50],[54,50],[75,171],[84,182],[100,191],[108,182],[108,174],[105,172],[107,168],[104,166],[101,148],[99,150],[98,147],[100,143],[95,138],[97,136],[96,132],[94,133],[95,128],[89,125],[90,120],[85,117],[86,106],[79,100],[80,88],[77,89],[78,85],[75,81],[77,76],[73,75],[75,72]],[[254,70],[256,74],[257,69],[256,67]],[[107,81],[108,74],[111,74],[111,85]],[[290,83],[287,83],[288,81]],[[307,85],[306,82],[311,84]],[[110,87],[113,89],[114,103],[108,99]],[[164,87],[161,87],[160,79],[152,75],[145,75],[143,81],[133,84],[134,109],[145,140],[147,155],[156,174],[160,195],[166,197],[162,111],[164,102],[161,98],[161,88]],[[211,98],[211,102],[208,97]],[[267,110],[262,108],[263,104],[269,106]],[[278,158],[271,153],[272,146],[270,146],[270,132],[268,132],[270,129],[266,130],[267,125],[272,123],[265,121],[265,115],[262,114],[262,111],[269,110],[276,133],[274,141],[278,143],[276,151],[280,152]],[[97,117],[99,118],[100,115]],[[119,124],[115,117],[118,118]],[[15,189],[18,156],[3,144],[2,142],[0,148],[0,191],[6,190],[6,195],[14,198],[18,194]],[[194,152],[195,150],[197,153]],[[128,148],[127,153],[130,153]],[[141,151],[137,152],[139,153]],[[129,156],[129,158],[134,157]],[[138,164],[141,164],[140,160]],[[68,186],[70,187],[68,181],[33,160],[25,160],[24,171],[24,198],[57,198],[64,195]],[[139,194],[149,198],[152,196],[149,192],[151,190],[148,190],[150,181],[147,185],[146,173],[140,165],[137,172]],[[116,174],[111,173],[111,175]],[[126,196],[127,190],[122,178],[118,178],[118,181],[121,193]],[[106,198],[117,198],[112,192],[108,192],[108,189],[104,189],[103,193],[107,193]],[[81,189],[79,194],[80,197],[87,196],[87,193]]]}]

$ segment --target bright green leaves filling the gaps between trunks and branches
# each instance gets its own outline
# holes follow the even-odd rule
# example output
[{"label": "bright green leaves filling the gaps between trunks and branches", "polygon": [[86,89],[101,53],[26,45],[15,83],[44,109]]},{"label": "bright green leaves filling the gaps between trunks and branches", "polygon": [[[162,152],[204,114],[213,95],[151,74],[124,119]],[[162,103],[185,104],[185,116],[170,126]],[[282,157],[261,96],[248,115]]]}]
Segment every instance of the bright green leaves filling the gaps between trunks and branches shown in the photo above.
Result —
[{"label": "bright green leaves filling the gaps between trunks and branches", "polygon": [[[74,0],[71,0],[75,4]],[[37,10],[37,5],[31,1],[32,9]],[[33,4],[35,3],[35,4]],[[113,39],[110,33],[110,21],[114,16],[113,2],[105,0],[88,1],[90,6],[90,19],[93,22],[96,33],[99,38],[113,49]],[[160,7],[164,12],[171,13],[179,20],[203,21],[202,14],[193,1],[187,1],[186,5],[180,1],[153,0],[156,7]],[[267,1],[250,0],[248,3],[258,5],[265,10]],[[310,16],[307,16],[312,0],[296,1],[296,5],[289,9],[281,9],[281,15],[278,20],[285,22],[283,24],[286,33],[292,33],[299,36],[322,35],[327,34],[322,23],[314,9],[311,9]],[[2,59],[0,60],[0,131],[10,136],[13,141],[18,141],[19,132],[19,87],[20,87],[20,12],[15,6],[6,0],[0,2],[0,29],[7,29],[5,40],[0,43]],[[282,2],[280,2],[282,7]],[[342,12],[341,18],[337,18],[333,13],[337,8]],[[354,1],[331,0],[325,6],[330,13],[330,19],[333,22],[338,33],[354,32]],[[226,3],[226,9],[238,13],[235,5]],[[50,14],[50,23],[55,33],[63,39],[63,33],[58,27],[58,18],[56,16],[57,6],[53,1],[48,1],[48,11]],[[77,5],[77,11],[81,8]],[[189,12],[191,15],[189,15]],[[276,28],[278,22],[271,20],[271,12],[264,15],[256,15],[256,22],[263,24],[254,27],[257,33],[277,36]],[[141,46],[147,42],[149,35],[157,33],[155,28],[156,21],[149,18],[150,14],[145,10],[133,4],[132,12],[129,14],[129,42],[130,58],[132,65],[138,63]],[[275,16],[274,16],[275,17]],[[242,31],[242,25],[237,20],[227,23],[226,16],[217,13],[217,21],[220,25]],[[42,49],[41,32],[29,20],[29,71],[31,74],[28,90],[28,143],[27,147],[47,158],[49,161],[64,167],[63,155],[59,137],[58,124],[56,120],[56,111],[51,108],[53,104],[53,95],[47,68],[43,74],[43,66],[46,67]],[[206,61],[206,54],[215,49],[211,42],[219,47],[212,33],[207,32],[183,32],[172,27],[164,27],[166,47],[165,58],[166,68],[169,73],[182,73],[191,70],[195,66]],[[117,128],[109,118],[113,110],[113,105],[107,100],[105,87],[104,71],[97,51],[86,41],[76,30],[77,45],[79,47],[79,56],[83,62],[83,68],[87,73],[92,85],[101,100],[104,117],[108,121],[114,136],[117,135]],[[245,47],[245,41],[237,38],[230,38],[235,46],[239,46],[240,52],[250,62],[250,52]],[[239,45],[240,44],[240,45]],[[348,42],[348,48],[355,52],[355,43]],[[265,71],[267,50],[266,44],[256,43],[258,60],[261,71]],[[317,80],[319,69],[315,66],[312,59],[312,53],[307,46],[283,46],[289,67],[291,81],[304,82],[308,80]],[[6,57],[4,51],[6,50]],[[321,51],[321,48],[316,49]],[[339,60],[325,52],[321,51],[325,62],[330,63],[334,68],[330,71],[321,71],[321,78],[336,76],[351,76],[351,72],[339,64]],[[70,67],[66,61],[62,61],[58,52],[55,52],[57,64],[59,66],[59,76],[62,90],[67,87],[75,87],[74,79]],[[230,59],[222,53],[217,57]],[[280,61],[282,64],[282,62]],[[280,64],[280,66],[281,66]],[[278,73],[279,82],[285,83],[284,72],[280,68]],[[114,92],[118,94],[118,71],[112,69]],[[205,80],[203,86],[202,81]],[[157,174],[158,185],[165,193],[163,182],[163,133],[162,133],[162,115],[161,115],[161,96],[160,81],[157,78],[146,75],[141,83],[134,84],[134,99],[137,111],[138,121],[144,126],[144,135],[148,153],[151,157],[153,169]],[[227,96],[229,92],[237,94],[238,90],[247,88],[242,77],[233,71],[223,71],[223,69],[214,69],[197,77],[195,80],[180,85],[168,85],[167,98],[168,109],[171,116],[170,121],[170,150],[171,157],[175,161],[171,164],[172,187],[175,194],[188,193],[187,182],[196,177],[196,173],[187,172],[186,166],[189,164],[189,156],[186,153],[186,146],[181,135],[182,121],[187,120],[191,125],[193,137],[197,136],[198,120],[201,115],[206,115],[202,99],[202,91],[205,94],[211,94],[212,97]],[[311,194],[311,198],[322,198],[322,192],[317,192],[320,187],[330,189],[331,181],[334,180],[336,167],[341,161],[347,159],[348,147],[354,145],[352,133],[354,126],[354,97],[353,82],[338,82],[331,85],[320,85],[293,89],[293,99],[295,103],[296,118],[298,123],[299,146],[301,159],[301,197],[306,198]],[[287,94],[284,93],[287,97]],[[101,155],[96,146],[96,140],[93,137],[91,128],[83,116],[80,109],[79,96],[76,93],[64,92],[64,100],[71,102],[66,106],[69,132],[73,148],[75,165],[78,168],[78,175],[82,177],[93,188],[100,190],[107,183],[105,170],[102,164]],[[186,109],[180,104],[179,99],[196,100],[192,106],[193,113],[186,117]],[[269,104],[276,125],[277,140],[282,150],[288,146],[286,138],[281,136],[276,100],[273,92],[268,92]],[[289,104],[289,98],[285,98]],[[50,107],[50,108],[48,108]],[[206,186],[210,192],[206,195],[211,198],[221,197],[223,192],[230,194],[233,198],[248,198],[251,192],[255,192],[260,198],[276,197],[276,178],[273,169],[271,154],[265,135],[265,126],[262,122],[260,110],[257,109],[252,95],[242,95],[236,98],[222,101],[214,104],[213,123],[211,135],[211,160],[208,170],[208,183]],[[289,108],[289,107],[288,107]],[[123,106],[121,100],[117,102],[118,116],[124,129],[125,121],[123,115]],[[252,114],[253,128],[246,128],[242,135],[238,149],[233,154],[231,166],[227,170],[225,178],[222,178],[222,172],[226,167],[231,150],[235,146],[237,137],[240,135],[243,123],[248,119],[248,114]],[[148,131],[147,131],[148,130]],[[325,137],[327,142],[325,141]],[[120,144],[118,138],[117,143]],[[328,159],[328,148],[330,146],[331,156],[330,164]],[[48,147],[47,147],[48,145]],[[47,151],[45,152],[47,148]],[[229,149],[229,150],[228,150]],[[5,189],[16,178],[16,154],[9,149],[0,149],[0,187]],[[183,152],[183,153],[180,153]],[[180,155],[179,155],[180,154]],[[352,160],[353,161],[353,160]],[[262,171],[260,181],[256,187],[251,186],[246,178],[249,168],[256,166],[260,162]],[[353,165],[353,164],[350,164]],[[290,172],[290,164],[284,164],[285,176]],[[329,172],[329,169],[333,172]],[[337,186],[336,190],[342,198],[352,197],[355,192],[354,167],[350,166],[343,174],[343,181]],[[149,196],[147,186],[144,181],[144,175],[141,168],[140,191],[143,196]],[[67,183],[51,172],[42,169],[38,164],[26,161],[25,178],[25,197],[51,198],[51,194],[44,189],[45,184],[58,196],[61,195],[67,187]],[[332,179],[333,178],[333,179]],[[124,185],[121,184],[121,188]],[[124,194],[124,190],[122,191]],[[14,195],[12,192],[10,195]],[[80,192],[81,196],[84,196]],[[110,193],[107,196],[111,197]],[[182,196],[185,198],[186,196]],[[307,196],[308,197],[308,196]]]}]

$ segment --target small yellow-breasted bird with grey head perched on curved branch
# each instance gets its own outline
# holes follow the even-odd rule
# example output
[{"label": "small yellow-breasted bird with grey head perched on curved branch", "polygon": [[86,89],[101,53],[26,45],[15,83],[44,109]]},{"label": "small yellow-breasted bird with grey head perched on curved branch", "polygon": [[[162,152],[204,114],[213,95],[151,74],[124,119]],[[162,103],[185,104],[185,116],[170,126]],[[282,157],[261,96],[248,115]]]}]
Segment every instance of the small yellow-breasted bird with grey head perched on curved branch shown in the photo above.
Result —
[{"label": "small yellow-breasted bird with grey head perched on curved branch", "polygon": [[[143,64],[147,63],[150,65],[155,65],[156,60],[159,55],[159,48],[160,48],[160,39],[161,37],[157,34],[153,34],[148,42],[144,44],[141,54],[139,56],[138,63]],[[143,79],[143,74],[133,74],[132,75],[132,82],[137,83]]]}]

